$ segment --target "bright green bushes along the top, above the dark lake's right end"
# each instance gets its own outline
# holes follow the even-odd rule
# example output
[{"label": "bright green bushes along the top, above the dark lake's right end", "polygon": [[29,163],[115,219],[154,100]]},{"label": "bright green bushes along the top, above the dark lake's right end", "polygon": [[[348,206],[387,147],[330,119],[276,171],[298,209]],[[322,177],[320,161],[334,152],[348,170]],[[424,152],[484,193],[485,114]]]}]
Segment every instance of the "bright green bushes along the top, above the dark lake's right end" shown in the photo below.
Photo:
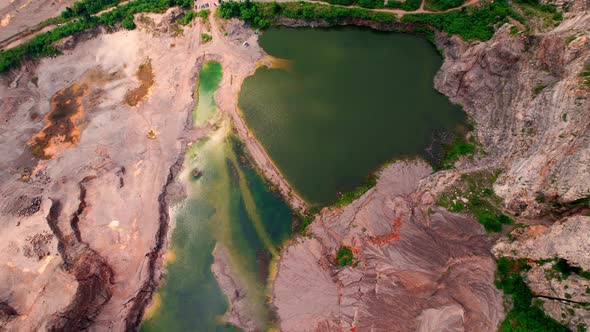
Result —
[{"label": "bright green bushes along the top, above the dark lake's right end", "polygon": [[482,1],[481,6],[462,8],[440,14],[406,14],[404,23],[422,23],[464,40],[488,40],[495,27],[508,22],[508,17],[520,18],[507,0]]}]

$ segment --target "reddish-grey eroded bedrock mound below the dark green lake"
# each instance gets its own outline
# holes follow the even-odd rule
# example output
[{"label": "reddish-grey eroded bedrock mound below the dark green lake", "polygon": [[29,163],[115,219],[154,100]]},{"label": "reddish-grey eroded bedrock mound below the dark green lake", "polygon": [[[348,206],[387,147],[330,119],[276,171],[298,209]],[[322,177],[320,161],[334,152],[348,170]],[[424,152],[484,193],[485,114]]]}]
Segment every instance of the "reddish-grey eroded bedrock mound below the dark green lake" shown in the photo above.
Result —
[{"label": "reddish-grey eroded bedrock mound below the dark green lake", "polygon": [[[273,304],[284,331],[489,331],[503,318],[491,242],[416,191],[422,161],[387,167],[352,204],[326,208],[283,250]],[[337,267],[351,248],[355,263]]]}]

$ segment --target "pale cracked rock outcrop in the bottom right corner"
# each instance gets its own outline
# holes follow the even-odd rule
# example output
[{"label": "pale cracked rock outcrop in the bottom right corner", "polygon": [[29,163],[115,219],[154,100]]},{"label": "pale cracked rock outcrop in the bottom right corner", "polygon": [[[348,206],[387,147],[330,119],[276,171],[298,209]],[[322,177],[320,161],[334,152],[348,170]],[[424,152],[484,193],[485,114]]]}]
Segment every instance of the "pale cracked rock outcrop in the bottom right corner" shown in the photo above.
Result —
[{"label": "pale cracked rock outcrop in the bottom right corner", "polygon": [[527,261],[525,281],[545,313],[574,331],[590,326],[590,217],[512,233],[513,240],[499,241],[494,254]]}]

